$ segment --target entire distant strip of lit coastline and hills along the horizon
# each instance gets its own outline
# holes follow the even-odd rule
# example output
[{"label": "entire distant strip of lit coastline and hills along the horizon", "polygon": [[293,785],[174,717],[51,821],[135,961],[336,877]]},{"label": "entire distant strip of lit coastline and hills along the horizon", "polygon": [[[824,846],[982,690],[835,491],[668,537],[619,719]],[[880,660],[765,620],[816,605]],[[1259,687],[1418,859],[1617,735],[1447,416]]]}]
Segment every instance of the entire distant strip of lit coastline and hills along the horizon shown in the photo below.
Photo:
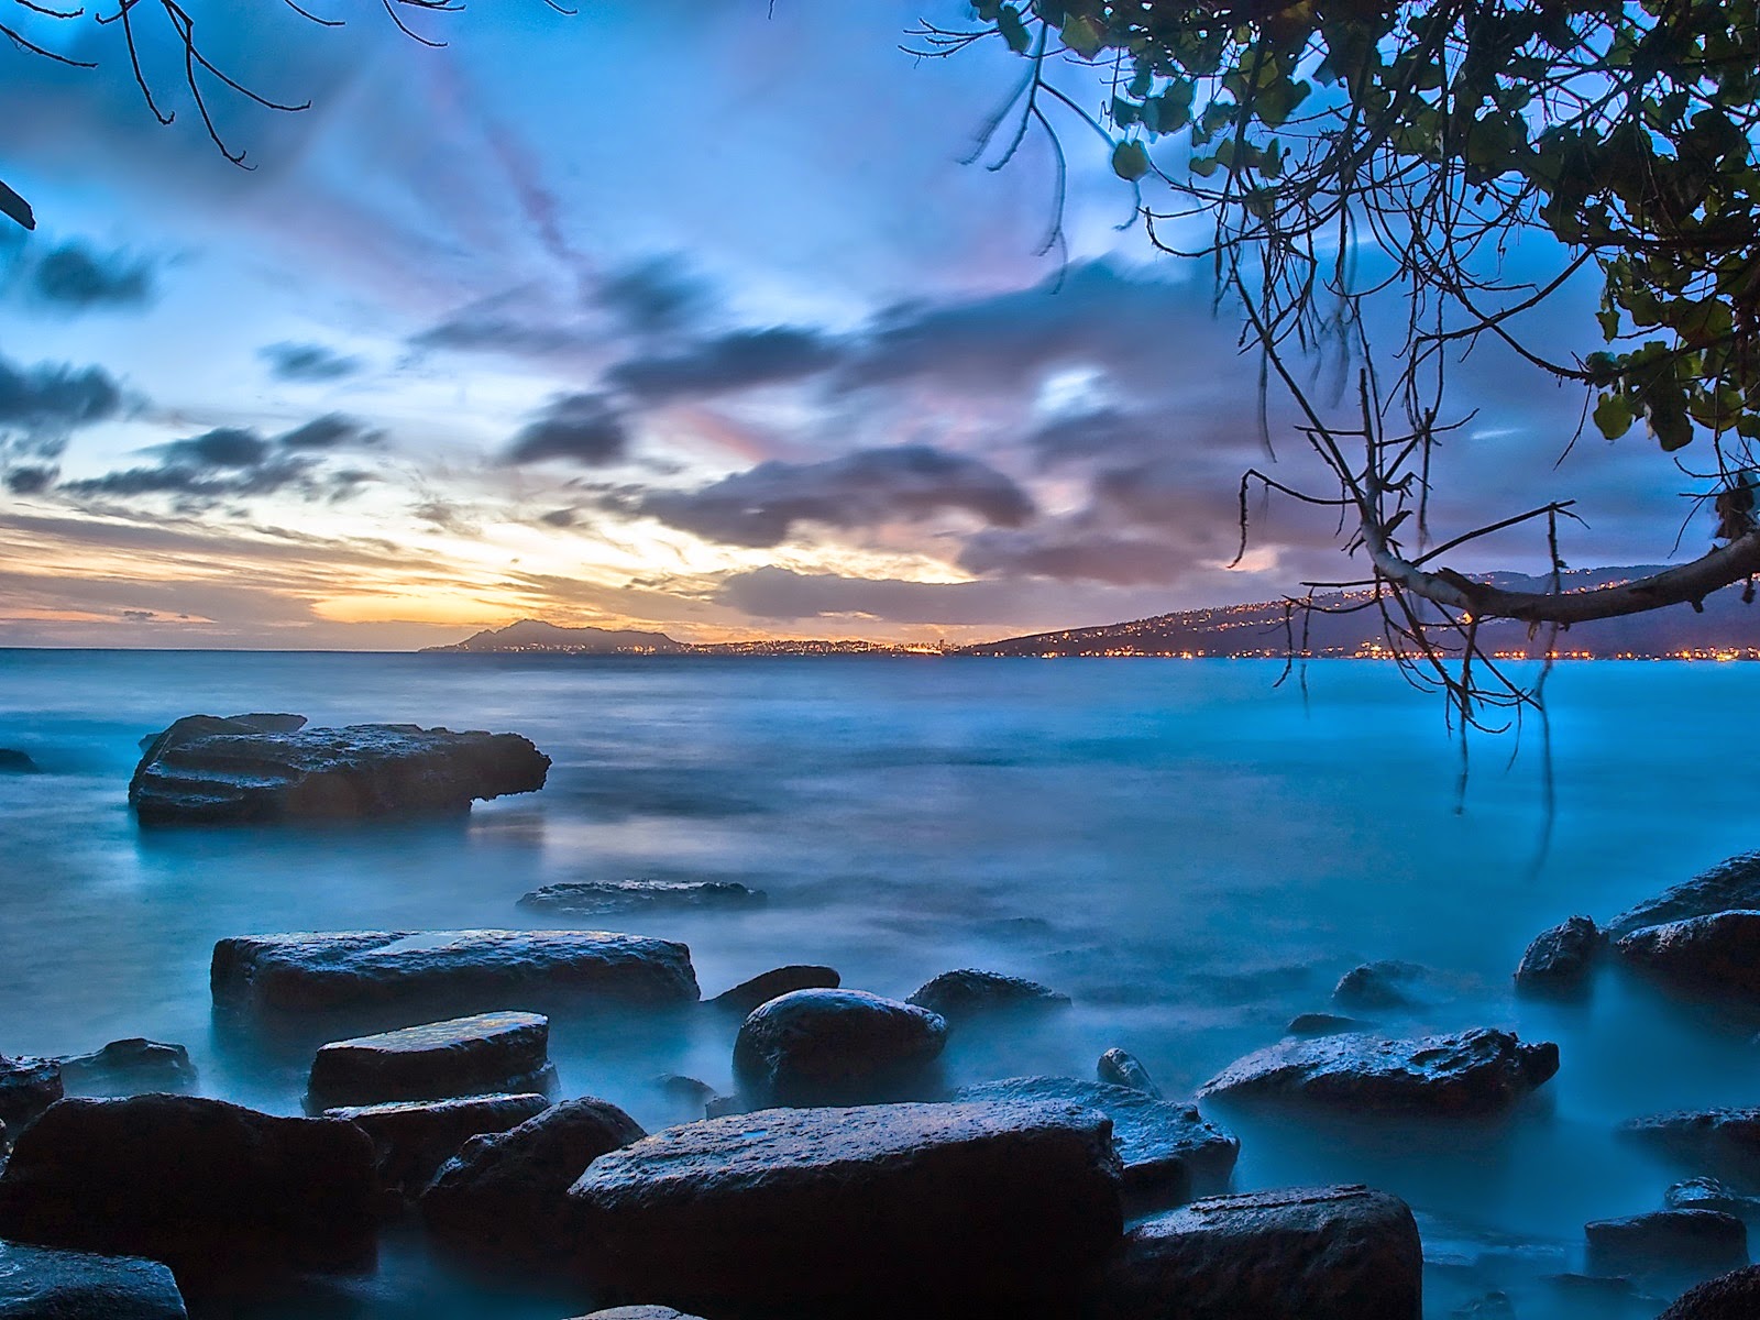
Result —
[{"label": "entire distant strip of lit coastline and hills along the horizon", "polygon": [[[1566,591],[1610,586],[1660,572],[1658,565],[1584,568],[1563,576]],[[1492,574],[1485,581],[1507,590],[1547,588],[1547,579],[1522,574]],[[1732,586],[1704,600],[1702,611],[1681,605],[1646,614],[1628,614],[1559,632],[1551,639],[1556,660],[1760,660],[1760,607],[1744,600],[1744,588]],[[429,646],[442,653],[546,653],[546,655],[989,655],[989,656],[1160,656],[1160,658],[1392,658],[1368,591],[1338,591],[1302,602],[1258,600],[1211,609],[1156,614],[1126,623],[1102,623],[1026,637],[1003,637],[975,646],[931,642],[896,644],[866,641],[757,639],[743,642],[679,642],[664,632],[612,628],[565,628],[539,620],[521,620],[489,628],[452,646]],[[1487,620],[1480,644],[1500,660],[1536,660],[1547,655],[1545,630],[1529,635],[1524,623]]]}]

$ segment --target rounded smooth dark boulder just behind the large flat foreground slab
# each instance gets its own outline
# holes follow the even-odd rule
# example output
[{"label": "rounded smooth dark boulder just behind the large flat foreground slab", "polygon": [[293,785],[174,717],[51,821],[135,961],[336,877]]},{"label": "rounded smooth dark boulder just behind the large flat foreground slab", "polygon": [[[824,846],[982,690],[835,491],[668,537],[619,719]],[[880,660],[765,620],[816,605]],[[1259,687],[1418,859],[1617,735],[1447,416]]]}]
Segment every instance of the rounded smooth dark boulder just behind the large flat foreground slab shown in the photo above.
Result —
[{"label": "rounded smooth dark boulder just behind the large flat foreground slab", "polygon": [[935,1089],[947,1023],[866,991],[790,991],[759,1005],[734,1038],[734,1081],[764,1105],[857,1105]]}]

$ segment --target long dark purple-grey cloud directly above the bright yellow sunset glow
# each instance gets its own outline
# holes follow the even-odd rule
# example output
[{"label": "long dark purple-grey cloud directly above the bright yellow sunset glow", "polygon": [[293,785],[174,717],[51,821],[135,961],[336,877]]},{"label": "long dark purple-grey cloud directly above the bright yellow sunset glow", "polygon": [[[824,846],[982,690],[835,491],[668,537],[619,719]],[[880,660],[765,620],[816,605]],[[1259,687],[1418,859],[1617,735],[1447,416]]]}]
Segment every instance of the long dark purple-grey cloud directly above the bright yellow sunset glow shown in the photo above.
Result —
[{"label": "long dark purple-grey cloud directly above the bright yellow sunset glow", "polygon": [[987,463],[929,445],[859,449],[824,463],[771,459],[697,491],[651,491],[635,502],[635,512],[669,526],[752,547],[781,544],[796,523],[861,528],[945,510],[1019,526],[1033,502]]}]

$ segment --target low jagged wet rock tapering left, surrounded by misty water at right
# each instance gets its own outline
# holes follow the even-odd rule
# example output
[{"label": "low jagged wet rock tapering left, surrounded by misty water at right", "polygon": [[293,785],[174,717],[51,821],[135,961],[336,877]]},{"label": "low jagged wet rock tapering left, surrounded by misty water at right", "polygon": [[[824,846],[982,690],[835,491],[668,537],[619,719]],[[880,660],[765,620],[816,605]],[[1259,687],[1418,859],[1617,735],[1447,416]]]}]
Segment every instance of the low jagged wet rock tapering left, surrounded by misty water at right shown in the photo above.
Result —
[{"label": "low jagged wet rock tapering left, surrounded by misty water at right", "polygon": [[1412,1040],[1350,1033],[1283,1040],[1248,1054],[1207,1081],[1199,1098],[1308,1100],[1383,1114],[1487,1114],[1554,1072],[1558,1045],[1524,1045],[1512,1031],[1475,1028]]}]

